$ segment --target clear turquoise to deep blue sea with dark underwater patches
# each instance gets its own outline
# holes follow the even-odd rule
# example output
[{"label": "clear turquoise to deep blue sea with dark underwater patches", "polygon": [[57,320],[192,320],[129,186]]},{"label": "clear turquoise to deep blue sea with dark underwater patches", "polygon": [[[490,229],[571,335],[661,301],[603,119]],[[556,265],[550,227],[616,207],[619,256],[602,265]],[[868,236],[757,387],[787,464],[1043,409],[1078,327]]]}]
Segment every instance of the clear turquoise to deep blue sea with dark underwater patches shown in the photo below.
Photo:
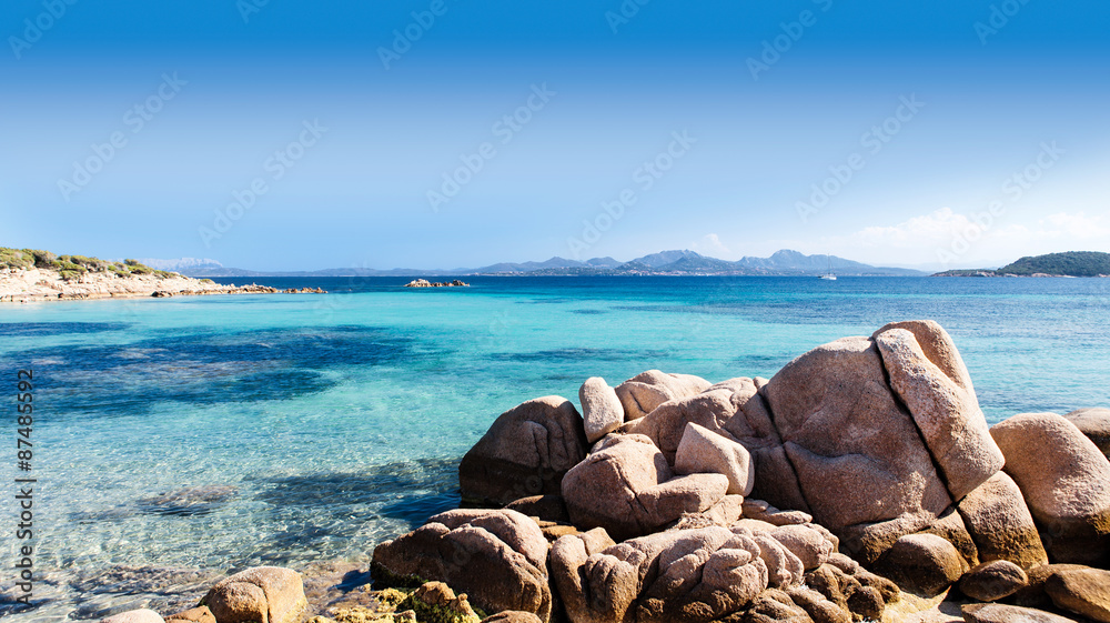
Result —
[{"label": "clear turquoise to deep blue sea with dark underwater patches", "polygon": [[22,543],[4,494],[0,613],[99,619],[204,573],[369,561],[457,503],[457,461],[502,411],[577,403],[592,375],[769,378],[820,343],[930,318],[991,422],[1110,405],[1107,279],[259,281],[330,293],[0,307],[9,483],[27,475],[17,370],[34,375],[39,603],[10,601]]}]

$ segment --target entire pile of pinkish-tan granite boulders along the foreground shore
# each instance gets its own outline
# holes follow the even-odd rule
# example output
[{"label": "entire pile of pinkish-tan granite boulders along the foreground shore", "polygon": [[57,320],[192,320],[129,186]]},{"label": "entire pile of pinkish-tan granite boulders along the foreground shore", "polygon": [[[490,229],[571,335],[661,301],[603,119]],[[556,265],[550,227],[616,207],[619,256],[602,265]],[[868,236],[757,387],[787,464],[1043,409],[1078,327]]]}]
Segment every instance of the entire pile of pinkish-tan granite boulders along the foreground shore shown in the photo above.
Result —
[{"label": "entire pile of pinkish-tan granite boulders along the foreground shore", "polygon": [[1110,410],[988,426],[936,322],[578,398],[498,416],[467,508],[377,544],[365,600],[255,567],[164,621],[1110,623]]}]

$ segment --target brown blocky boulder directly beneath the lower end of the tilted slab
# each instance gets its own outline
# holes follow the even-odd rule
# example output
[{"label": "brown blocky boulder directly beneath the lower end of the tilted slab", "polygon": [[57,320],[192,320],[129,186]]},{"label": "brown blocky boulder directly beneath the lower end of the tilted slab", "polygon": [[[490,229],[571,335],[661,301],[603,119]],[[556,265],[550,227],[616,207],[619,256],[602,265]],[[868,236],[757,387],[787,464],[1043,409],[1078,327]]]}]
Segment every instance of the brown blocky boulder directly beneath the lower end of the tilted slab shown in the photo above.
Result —
[{"label": "brown blocky boulder directly beneath the lower end of the tilted slab", "polygon": [[975,541],[979,560],[1010,561],[1021,569],[1048,564],[1021,490],[1006,472],[998,472],[956,505]]}]

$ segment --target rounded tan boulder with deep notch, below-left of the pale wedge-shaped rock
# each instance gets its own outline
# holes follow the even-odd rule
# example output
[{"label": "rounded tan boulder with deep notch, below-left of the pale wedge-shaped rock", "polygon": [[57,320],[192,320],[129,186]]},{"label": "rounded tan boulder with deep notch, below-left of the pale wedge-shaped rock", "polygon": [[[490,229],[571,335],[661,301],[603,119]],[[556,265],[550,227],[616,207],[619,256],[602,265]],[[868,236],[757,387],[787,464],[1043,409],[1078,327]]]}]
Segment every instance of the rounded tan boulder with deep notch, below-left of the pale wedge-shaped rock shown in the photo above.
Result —
[{"label": "rounded tan boulder with deep notch, below-left of the pale wedge-shaped rock", "polygon": [[563,479],[563,499],[574,524],[604,527],[617,540],[649,534],[684,513],[706,511],[725,498],[722,474],[675,476],[659,449],[644,435],[601,442]]}]

